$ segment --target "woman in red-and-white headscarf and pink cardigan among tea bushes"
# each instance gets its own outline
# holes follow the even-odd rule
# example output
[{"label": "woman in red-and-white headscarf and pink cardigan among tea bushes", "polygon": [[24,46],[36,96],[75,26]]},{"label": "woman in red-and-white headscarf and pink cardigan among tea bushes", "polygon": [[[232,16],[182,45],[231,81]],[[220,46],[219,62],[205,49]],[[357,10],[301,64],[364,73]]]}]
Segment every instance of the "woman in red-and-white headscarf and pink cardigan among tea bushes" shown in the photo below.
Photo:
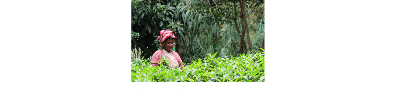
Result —
[{"label": "woman in red-and-white headscarf and pink cardigan among tea bushes", "polygon": [[175,46],[174,39],[177,39],[171,30],[161,30],[161,35],[158,36],[157,40],[160,40],[160,47],[158,51],[155,51],[152,55],[151,66],[155,67],[160,63],[162,58],[169,61],[168,65],[171,68],[184,69],[184,65],[181,63],[181,58],[179,54],[172,51],[173,46]]}]

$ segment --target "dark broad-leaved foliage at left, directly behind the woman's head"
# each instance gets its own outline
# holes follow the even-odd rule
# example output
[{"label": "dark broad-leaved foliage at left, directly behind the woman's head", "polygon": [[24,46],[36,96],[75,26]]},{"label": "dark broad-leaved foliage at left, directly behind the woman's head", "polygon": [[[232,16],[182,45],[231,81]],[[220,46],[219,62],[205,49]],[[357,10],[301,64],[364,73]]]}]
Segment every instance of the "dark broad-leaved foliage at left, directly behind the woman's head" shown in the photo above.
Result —
[{"label": "dark broad-leaved foliage at left, directly behind the woman's head", "polygon": [[177,38],[184,39],[182,18],[176,13],[185,11],[185,7],[180,9],[181,4],[180,0],[132,0],[132,50],[138,50],[132,51],[132,55],[140,53],[139,57],[150,58],[157,51],[159,42],[156,37],[160,30],[171,29]]}]

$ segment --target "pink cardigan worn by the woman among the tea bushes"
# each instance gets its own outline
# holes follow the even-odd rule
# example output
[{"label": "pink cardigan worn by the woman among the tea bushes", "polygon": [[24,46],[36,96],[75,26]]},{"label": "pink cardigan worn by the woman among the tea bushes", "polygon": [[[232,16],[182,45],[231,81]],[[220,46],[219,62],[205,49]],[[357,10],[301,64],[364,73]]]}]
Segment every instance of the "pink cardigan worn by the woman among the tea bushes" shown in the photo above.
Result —
[{"label": "pink cardigan worn by the woman among the tea bushes", "polygon": [[[172,53],[173,53],[173,56],[174,56],[175,60],[177,61],[177,63],[179,63],[179,66],[181,66],[180,69],[183,70],[184,65],[181,63],[182,61],[181,61],[179,54],[177,54],[175,51],[172,51]],[[150,62],[151,66],[152,67],[157,66],[158,63],[160,63],[160,60],[162,60],[162,49],[155,51],[154,54],[152,55],[151,62]]]}]

